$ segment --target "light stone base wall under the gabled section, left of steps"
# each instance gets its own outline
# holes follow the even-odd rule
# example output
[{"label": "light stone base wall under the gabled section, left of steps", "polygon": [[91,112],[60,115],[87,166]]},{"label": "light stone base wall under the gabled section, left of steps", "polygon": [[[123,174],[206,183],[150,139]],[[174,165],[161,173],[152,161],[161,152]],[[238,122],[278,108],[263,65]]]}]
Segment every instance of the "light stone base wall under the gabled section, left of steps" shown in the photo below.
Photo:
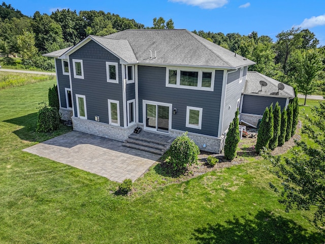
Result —
[{"label": "light stone base wall under the gabled section, left of steps", "polygon": [[117,141],[124,141],[134,131],[137,125],[123,128],[105,123],[72,117],[73,129],[96,136],[102,136]]}]

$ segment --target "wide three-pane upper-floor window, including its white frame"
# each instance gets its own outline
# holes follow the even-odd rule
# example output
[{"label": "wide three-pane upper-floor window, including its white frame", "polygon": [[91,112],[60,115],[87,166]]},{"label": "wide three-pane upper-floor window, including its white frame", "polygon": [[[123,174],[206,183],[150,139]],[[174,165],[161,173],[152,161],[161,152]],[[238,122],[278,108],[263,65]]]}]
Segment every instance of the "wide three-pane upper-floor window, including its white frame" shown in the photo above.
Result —
[{"label": "wide three-pane upper-floor window, including its white frame", "polygon": [[166,86],[213,91],[214,73],[214,70],[209,69],[167,68]]}]

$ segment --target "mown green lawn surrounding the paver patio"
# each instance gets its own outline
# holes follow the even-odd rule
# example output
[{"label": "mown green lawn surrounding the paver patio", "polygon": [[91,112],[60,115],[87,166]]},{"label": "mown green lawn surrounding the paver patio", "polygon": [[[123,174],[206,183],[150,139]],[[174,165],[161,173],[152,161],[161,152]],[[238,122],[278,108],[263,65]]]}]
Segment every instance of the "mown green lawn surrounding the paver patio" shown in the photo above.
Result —
[{"label": "mown green lawn surrounding the paver patio", "polygon": [[24,153],[70,130],[35,132],[50,86],[0,90],[0,243],[324,242],[311,212],[286,213],[277,202],[269,182],[279,182],[266,161],[187,181],[156,165],[121,196],[107,178]]}]

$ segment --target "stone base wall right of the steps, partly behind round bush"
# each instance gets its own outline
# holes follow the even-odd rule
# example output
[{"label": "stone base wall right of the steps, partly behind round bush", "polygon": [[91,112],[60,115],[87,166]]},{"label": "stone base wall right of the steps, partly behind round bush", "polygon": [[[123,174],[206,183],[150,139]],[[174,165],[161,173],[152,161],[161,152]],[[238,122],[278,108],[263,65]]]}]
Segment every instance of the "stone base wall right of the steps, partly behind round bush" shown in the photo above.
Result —
[{"label": "stone base wall right of the steps, partly behind round bush", "polygon": [[[170,130],[170,136],[177,137],[181,136],[184,131],[179,131],[179,130]],[[210,153],[217,153],[219,154],[221,149],[222,149],[222,141],[223,138],[220,137],[213,137],[213,136],[206,136],[206,135],[201,135],[201,134],[196,134],[196,133],[191,133],[188,132],[188,137],[192,139],[195,144],[199,146],[201,150],[204,151],[209,151]],[[206,147],[203,147],[203,145],[206,145]]]}]

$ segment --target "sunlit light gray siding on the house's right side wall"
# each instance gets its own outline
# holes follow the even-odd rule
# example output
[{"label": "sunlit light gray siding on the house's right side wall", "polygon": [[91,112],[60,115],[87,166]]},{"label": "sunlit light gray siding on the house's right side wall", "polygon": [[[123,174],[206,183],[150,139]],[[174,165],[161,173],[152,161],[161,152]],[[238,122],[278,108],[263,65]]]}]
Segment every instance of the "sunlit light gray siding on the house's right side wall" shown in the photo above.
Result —
[{"label": "sunlit light gray siding on the house's right side wall", "polygon": [[228,129],[231,121],[235,117],[237,101],[241,97],[242,90],[246,82],[246,74],[247,67],[244,67],[243,81],[241,83],[239,83],[240,69],[238,69],[236,72],[228,74],[225,92],[222,133]]}]

